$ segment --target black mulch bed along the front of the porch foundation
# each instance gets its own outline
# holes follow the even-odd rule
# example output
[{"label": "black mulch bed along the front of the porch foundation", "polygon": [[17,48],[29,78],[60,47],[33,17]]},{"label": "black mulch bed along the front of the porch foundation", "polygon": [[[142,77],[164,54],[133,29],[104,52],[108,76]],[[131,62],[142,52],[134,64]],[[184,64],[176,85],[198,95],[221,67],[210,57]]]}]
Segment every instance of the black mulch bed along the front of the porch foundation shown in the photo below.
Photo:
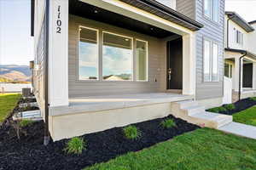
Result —
[{"label": "black mulch bed along the front of the porch foundation", "polygon": [[22,135],[20,140],[16,138],[14,128],[6,125],[0,129],[0,170],[82,169],[130,151],[143,150],[156,143],[200,128],[173,116],[168,116],[168,118],[173,118],[177,127],[171,129],[160,127],[160,122],[164,118],[135,124],[143,134],[137,140],[125,139],[120,127],[100,133],[86,134],[83,137],[88,147],[80,156],[64,153],[63,148],[67,139],[44,146],[43,122],[34,122],[31,127],[26,127],[24,129],[26,136]]}]

